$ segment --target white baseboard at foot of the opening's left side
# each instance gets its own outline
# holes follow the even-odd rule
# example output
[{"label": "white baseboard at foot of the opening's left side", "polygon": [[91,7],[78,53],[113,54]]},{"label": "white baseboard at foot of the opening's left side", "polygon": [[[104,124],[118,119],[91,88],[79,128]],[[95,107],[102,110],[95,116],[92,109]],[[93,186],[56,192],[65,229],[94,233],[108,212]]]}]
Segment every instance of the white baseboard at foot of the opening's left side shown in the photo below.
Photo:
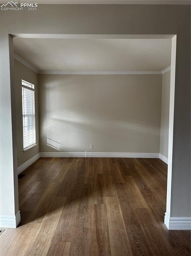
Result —
[{"label": "white baseboard at foot of the opening's left side", "polygon": [[16,228],[20,221],[20,211],[18,211],[15,215],[0,215],[1,228]]}]

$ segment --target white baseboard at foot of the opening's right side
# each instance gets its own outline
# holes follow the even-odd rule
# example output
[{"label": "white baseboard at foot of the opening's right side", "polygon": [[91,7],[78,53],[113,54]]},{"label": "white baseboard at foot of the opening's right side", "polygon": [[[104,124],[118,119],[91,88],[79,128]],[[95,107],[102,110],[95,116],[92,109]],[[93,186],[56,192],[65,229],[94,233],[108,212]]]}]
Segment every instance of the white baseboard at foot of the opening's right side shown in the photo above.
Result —
[{"label": "white baseboard at foot of the opening's right side", "polygon": [[165,213],[164,223],[170,230],[191,230],[191,217],[169,217]]}]

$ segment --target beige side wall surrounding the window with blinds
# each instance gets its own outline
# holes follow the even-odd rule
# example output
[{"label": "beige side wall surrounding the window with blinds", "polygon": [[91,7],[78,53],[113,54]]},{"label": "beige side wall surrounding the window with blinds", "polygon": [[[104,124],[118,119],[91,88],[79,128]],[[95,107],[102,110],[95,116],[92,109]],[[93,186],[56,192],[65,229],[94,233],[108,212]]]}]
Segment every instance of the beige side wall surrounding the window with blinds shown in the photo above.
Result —
[{"label": "beige side wall surrounding the window with blinds", "polygon": [[[18,166],[39,153],[39,107],[38,107],[38,74],[14,60],[15,71],[15,100],[17,125],[17,155],[20,160]],[[22,116],[22,84],[25,80],[35,85],[35,111],[36,111],[36,143],[37,145],[23,152],[23,116]]]}]

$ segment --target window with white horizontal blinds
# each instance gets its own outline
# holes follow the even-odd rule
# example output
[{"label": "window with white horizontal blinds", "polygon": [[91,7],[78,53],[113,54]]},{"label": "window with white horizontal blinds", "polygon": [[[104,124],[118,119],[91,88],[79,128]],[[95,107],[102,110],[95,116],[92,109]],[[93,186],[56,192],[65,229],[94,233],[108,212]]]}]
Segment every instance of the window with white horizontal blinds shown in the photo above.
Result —
[{"label": "window with white horizontal blinds", "polygon": [[22,80],[23,149],[36,144],[35,86]]}]

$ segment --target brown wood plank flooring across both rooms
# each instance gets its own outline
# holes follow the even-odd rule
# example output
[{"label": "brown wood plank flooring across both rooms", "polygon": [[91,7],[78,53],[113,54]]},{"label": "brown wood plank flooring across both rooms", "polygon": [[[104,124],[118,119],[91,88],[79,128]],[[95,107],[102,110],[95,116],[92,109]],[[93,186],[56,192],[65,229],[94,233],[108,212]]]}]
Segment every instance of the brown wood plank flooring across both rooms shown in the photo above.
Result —
[{"label": "brown wood plank flooring across both rooms", "polygon": [[144,158],[40,158],[19,179],[21,223],[1,256],[190,256],[164,225],[167,165]]}]

